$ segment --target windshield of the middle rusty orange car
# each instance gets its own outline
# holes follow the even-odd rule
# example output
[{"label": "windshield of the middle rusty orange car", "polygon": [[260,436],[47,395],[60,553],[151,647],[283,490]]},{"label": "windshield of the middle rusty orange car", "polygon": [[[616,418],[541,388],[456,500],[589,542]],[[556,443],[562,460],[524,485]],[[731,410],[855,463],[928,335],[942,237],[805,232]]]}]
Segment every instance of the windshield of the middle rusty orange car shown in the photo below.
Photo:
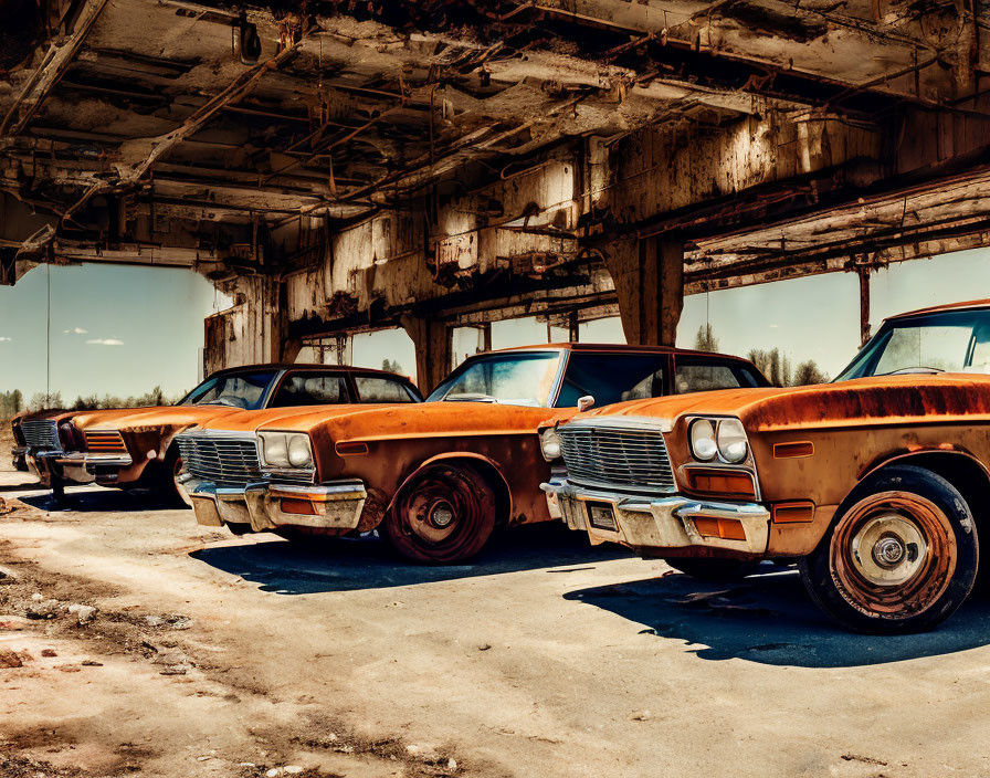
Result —
[{"label": "windshield of the middle rusty orange car", "polygon": [[426,398],[428,402],[501,402],[546,408],[560,351],[491,354],[468,359]]}]

